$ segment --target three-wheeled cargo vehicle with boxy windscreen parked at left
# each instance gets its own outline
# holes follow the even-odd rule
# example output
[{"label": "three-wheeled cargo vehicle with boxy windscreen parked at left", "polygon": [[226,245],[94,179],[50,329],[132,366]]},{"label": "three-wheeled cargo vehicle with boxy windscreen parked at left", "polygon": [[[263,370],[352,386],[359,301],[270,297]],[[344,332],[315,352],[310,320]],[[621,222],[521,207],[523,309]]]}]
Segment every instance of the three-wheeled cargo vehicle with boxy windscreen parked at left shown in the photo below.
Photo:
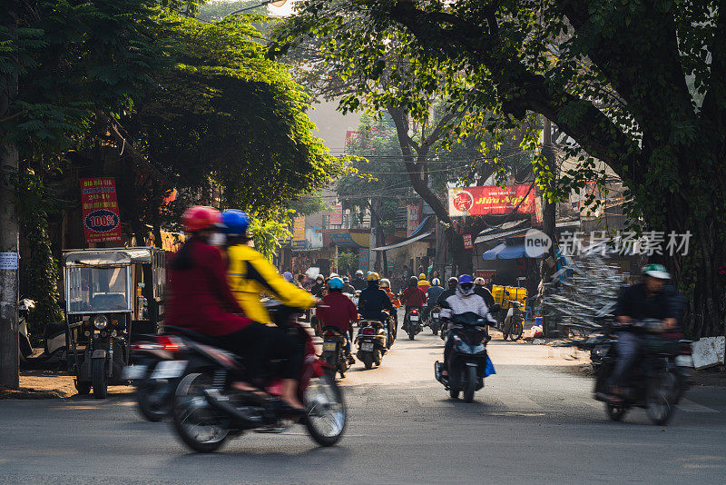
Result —
[{"label": "three-wheeled cargo vehicle with boxy windscreen parked at left", "polygon": [[162,330],[166,255],[152,247],[64,252],[68,369],[79,394],[125,384],[135,335]]}]

